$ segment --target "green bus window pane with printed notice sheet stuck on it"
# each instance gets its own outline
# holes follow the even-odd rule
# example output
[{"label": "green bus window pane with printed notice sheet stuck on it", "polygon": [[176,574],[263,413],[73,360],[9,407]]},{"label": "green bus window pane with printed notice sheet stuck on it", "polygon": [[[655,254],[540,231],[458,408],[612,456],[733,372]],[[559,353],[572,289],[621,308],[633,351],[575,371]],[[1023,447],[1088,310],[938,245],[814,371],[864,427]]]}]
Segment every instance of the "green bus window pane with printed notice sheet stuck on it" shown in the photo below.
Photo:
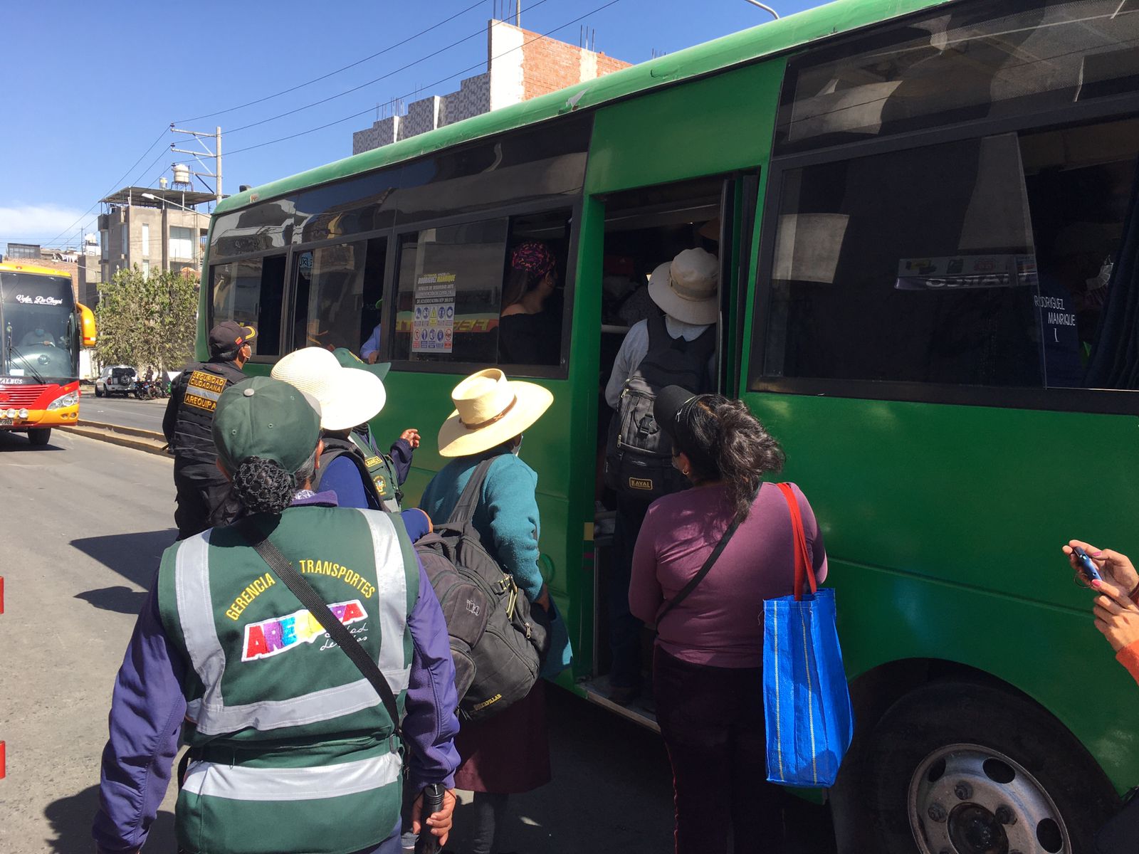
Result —
[{"label": "green bus window pane with printed notice sheet stuck on it", "polygon": [[400,238],[393,359],[494,364],[507,219]]}]

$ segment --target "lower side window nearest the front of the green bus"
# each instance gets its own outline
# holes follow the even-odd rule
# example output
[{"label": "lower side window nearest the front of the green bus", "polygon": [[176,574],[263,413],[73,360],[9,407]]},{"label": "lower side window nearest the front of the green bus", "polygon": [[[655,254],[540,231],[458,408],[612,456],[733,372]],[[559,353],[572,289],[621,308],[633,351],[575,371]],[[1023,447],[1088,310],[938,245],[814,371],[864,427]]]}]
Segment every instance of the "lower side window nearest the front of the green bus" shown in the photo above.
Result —
[{"label": "lower side window nearest the front of the green bus", "polygon": [[285,256],[244,258],[210,266],[213,291],[211,323],[236,320],[257,330],[251,343],[255,355],[280,355]]}]

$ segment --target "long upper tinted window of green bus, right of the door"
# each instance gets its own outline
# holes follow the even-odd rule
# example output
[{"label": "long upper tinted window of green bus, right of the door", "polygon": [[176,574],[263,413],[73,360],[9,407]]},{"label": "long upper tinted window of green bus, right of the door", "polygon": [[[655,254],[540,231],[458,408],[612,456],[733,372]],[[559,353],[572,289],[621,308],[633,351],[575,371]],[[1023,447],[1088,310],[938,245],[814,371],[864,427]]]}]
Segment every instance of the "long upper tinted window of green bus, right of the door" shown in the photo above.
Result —
[{"label": "long upper tinted window of green bus, right of the door", "polygon": [[1133,91],[1137,39],[1120,0],[939,6],[789,63],[776,154]]}]

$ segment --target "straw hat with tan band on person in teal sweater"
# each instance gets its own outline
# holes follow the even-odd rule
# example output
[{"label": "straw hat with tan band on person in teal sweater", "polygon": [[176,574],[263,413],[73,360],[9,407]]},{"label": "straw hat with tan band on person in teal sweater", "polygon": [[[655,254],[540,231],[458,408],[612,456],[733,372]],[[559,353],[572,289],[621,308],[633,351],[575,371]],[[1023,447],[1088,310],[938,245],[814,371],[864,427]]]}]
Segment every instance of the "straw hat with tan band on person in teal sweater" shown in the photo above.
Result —
[{"label": "straw hat with tan band on person in teal sweater", "polygon": [[467,457],[501,445],[541,418],[554,395],[487,368],[459,383],[451,400],[454,411],[439,428],[440,457]]}]

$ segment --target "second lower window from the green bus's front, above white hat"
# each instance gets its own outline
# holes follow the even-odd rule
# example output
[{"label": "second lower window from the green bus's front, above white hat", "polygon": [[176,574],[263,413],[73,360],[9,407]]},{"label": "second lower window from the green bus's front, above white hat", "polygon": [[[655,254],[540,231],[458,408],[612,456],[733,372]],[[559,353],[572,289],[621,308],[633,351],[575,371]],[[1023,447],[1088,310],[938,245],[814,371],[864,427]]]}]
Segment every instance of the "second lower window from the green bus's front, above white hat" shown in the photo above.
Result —
[{"label": "second lower window from the green bus's front, above white hat", "polygon": [[[383,295],[386,240],[320,246],[294,256],[293,347],[359,352]],[[369,257],[372,256],[372,257]],[[368,320],[371,326],[363,330]]]}]

